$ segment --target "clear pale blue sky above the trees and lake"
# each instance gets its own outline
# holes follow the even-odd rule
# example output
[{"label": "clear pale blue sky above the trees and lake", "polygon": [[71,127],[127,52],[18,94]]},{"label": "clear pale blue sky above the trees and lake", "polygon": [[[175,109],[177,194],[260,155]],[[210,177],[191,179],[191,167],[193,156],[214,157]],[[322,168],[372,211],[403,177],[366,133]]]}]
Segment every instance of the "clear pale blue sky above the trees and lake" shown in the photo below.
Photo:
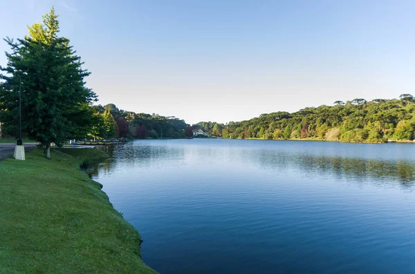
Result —
[{"label": "clear pale blue sky above the trees and lake", "polygon": [[53,4],[99,104],[192,124],[415,94],[412,0],[2,0],[0,37]]}]

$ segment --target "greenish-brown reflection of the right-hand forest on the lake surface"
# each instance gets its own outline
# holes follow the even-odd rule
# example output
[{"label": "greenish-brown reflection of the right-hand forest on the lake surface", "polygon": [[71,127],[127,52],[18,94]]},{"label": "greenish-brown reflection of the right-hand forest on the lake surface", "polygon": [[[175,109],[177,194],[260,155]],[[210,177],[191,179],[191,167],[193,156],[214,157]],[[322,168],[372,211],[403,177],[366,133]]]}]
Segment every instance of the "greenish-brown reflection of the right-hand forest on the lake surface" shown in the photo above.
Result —
[{"label": "greenish-brown reflection of the right-hand forest on the lake surface", "polygon": [[[252,160],[255,161],[255,158]],[[400,184],[412,186],[415,180],[415,163],[407,160],[391,161],[263,151],[259,162],[261,166],[267,168],[294,168],[304,173],[326,173],[340,179],[354,179],[358,182],[362,179],[375,178],[378,180],[376,184],[382,185],[397,180]]]}]

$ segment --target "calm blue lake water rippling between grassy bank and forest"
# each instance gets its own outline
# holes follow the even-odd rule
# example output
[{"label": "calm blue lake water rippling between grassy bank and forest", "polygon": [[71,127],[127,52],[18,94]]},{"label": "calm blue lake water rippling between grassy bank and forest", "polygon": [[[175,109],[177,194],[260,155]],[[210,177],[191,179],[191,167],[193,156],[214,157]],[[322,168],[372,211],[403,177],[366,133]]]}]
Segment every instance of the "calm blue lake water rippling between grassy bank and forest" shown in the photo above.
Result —
[{"label": "calm blue lake water rippling between grassy bank and forest", "polygon": [[118,146],[94,177],[160,273],[415,273],[415,145]]}]

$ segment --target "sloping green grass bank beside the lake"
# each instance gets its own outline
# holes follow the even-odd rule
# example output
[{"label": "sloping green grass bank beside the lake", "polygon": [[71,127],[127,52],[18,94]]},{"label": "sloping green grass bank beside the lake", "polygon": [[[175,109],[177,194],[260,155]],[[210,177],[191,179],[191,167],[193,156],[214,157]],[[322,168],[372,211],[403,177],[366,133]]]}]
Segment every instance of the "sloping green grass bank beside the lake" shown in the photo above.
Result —
[{"label": "sloping green grass bank beside the lake", "polygon": [[95,148],[0,161],[0,273],[156,273],[140,235],[80,170]]}]

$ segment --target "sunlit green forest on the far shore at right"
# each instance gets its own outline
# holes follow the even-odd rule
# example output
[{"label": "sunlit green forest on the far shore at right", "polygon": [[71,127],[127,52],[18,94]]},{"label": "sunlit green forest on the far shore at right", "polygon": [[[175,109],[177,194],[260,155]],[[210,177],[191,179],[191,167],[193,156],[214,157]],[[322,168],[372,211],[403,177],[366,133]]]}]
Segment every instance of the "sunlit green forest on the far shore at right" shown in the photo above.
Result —
[{"label": "sunlit green forest on the far shore at right", "polygon": [[415,99],[353,99],[335,101],[297,112],[272,112],[247,121],[227,124],[199,122],[193,128],[229,139],[315,139],[326,141],[382,143],[414,138]]}]

